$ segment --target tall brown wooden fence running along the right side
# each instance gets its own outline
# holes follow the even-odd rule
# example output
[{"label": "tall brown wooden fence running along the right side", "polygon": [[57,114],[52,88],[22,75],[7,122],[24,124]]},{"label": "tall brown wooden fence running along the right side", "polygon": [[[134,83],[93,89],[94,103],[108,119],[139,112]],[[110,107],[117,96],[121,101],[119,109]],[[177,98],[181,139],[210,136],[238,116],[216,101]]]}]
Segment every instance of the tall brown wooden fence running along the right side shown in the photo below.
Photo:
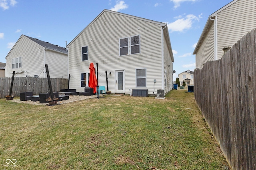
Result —
[{"label": "tall brown wooden fence running along the right side", "polygon": [[194,72],[198,107],[233,170],[256,170],[256,31]]}]

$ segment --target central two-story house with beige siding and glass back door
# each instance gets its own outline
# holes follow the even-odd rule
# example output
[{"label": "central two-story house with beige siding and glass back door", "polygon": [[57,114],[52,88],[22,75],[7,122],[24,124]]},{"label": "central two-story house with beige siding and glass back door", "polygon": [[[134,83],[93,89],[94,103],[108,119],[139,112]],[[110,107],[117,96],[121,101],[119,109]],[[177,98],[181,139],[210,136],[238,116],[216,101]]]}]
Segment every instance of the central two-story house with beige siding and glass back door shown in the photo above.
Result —
[{"label": "central two-story house with beige siding and glass back door", "polygon": [[166,23],[103,10],[67,48],[70,88],[77,91],[88,86],[90,63],[98,63],[100,86],[106,86],[107,71],[112,93],[172,89],[174,58]]}]

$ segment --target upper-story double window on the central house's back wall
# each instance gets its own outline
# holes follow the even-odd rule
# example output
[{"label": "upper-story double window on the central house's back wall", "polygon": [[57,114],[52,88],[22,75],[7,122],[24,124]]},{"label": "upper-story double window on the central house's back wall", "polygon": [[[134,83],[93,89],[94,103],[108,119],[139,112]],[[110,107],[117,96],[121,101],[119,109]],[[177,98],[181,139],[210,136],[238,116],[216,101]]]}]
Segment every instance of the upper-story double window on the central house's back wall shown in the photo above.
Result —
[{"label": "upper-story double window on the central house's back wall", "polygon": [[[130,40],[130,42],[128,42]],[[140,35],[119,39],[120,56],[140,53]]]}]

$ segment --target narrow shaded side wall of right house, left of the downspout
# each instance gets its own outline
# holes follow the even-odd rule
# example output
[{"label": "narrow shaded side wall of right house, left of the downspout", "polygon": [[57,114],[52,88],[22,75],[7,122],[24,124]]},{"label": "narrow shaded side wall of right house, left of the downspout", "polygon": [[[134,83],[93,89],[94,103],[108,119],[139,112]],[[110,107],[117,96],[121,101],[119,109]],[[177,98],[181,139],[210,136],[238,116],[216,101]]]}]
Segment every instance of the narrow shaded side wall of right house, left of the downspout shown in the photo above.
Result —
[{"label": "narrow shaded side wall of right house, left of the downspout", "polygon": [[207,61],[214,60],[214,23],[205,36],[198,52],[196,53],[196,68],[202,69],[203,64]]}]

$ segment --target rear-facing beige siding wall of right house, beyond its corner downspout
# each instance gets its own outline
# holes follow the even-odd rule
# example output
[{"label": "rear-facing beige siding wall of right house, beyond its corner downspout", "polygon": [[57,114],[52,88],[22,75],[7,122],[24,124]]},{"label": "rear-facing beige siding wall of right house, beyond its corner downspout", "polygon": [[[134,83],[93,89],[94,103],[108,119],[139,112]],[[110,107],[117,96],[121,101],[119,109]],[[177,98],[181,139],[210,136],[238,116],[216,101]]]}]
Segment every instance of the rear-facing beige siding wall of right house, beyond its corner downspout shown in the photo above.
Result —
[{"label": "rear-facing beige siding wall of right house, beyond its corner downspout", "polygon": [[232,47],[246,33],[256,28],[256,1],[238,0],[218,16],[218,59],[225,46]]}]

